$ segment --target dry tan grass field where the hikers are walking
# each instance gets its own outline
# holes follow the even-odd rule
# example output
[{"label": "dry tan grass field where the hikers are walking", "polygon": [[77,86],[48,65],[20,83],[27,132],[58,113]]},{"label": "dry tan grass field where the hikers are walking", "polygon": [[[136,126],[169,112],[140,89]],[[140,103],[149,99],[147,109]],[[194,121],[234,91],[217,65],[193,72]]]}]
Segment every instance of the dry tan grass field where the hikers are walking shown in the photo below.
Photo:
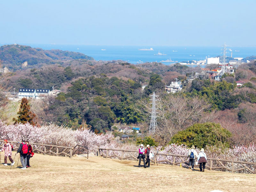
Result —
[{"label": "dry tan grass field where the hikers are walking", "polygon": [[[56,157],[35,154],[32,167],[0,165],[1,191],[256,191],[256,175],[192,171],[171,165],[137,167],[136,161],[103,157]],[[12,156],[12,158],[14,155]],[[10,164],[9,159],[7,163]]]}]

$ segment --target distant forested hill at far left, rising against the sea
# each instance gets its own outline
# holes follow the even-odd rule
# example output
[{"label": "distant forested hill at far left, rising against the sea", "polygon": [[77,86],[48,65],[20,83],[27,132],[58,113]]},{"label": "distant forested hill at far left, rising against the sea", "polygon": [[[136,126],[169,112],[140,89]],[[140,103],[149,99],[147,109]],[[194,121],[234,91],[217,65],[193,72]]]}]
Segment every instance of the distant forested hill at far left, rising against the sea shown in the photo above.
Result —
[{"label": "distant forested hill at far left, rising against the sea", "polygon": [[19,44],[3,45],[0,47],[2,66],[7,67],[11,71],[21,68],[38,68],[54,63],[61,64],[63,60],[76,59],[93,60],[92,57],[78,52],[43,50]]}]

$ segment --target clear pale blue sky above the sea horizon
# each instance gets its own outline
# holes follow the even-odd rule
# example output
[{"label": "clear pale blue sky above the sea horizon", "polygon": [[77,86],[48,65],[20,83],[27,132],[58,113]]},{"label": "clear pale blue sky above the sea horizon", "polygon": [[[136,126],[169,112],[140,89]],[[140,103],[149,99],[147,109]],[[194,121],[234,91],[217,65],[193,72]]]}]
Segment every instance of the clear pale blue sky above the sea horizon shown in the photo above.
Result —
[{"label": "clear pale blue sky above the sea horizon", "polygon": [[255,0],[0,1],[0,44],[255,46]]}]

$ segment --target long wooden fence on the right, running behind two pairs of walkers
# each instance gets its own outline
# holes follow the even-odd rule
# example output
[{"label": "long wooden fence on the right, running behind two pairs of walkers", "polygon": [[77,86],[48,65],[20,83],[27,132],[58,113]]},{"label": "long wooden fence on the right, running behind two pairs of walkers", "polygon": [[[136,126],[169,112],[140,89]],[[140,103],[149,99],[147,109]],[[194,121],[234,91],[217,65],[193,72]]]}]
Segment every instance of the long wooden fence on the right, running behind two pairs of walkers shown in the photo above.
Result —
[{"label": "long wooden fence on the right, running behind two pairs of walkers", "polygon": [[[137,159],[138,151],[129,150],[129,149],[114,149],[114,148],[98,148],[98,156],[103,156],[106,158],[117,157],[120,160],[124,159]],[[134,154],[136,153],[136,155]],[[151,159],[153,163],[158,165],[159,163],[171,164],[173,166],[177,164],[189,165],[189,157],[185,155],[176,155],[176,154],[165,154],[165,153],[154,153],[154,158]],[[196,166],[196,165],[195,165]],[[199,165],[198,165],[199,166]],[[219,171],[228,171],[231,173],[234,172],[243,172],[243,173],[256,173],[256,163],[254,162],[244,162],[244,161],[233,161],[226,159],[215,159],[207,158],[207,163],[205,165],[209,170],[219,170]]]}]

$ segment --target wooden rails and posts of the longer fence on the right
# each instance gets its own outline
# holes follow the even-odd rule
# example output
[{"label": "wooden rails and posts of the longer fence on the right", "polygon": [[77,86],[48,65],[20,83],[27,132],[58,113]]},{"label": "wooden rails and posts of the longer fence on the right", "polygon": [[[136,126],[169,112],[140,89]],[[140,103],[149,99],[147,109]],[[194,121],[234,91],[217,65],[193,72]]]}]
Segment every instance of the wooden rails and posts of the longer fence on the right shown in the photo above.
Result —
[{"label": "wooden rails and posts of the longer fence on the right", "polygon": [[[102,153],[100,154],[100,150],[102,151]],[[106,155],[103,153],[103,150],[107,150],[107,153]],[[114,155],[109,155],[109,151],[113,151]],[[121,156],[118,156],[115,151],[121,151],[122,152],[122,155]],[[130,156],[124,156],[124,152],[128,152]],[[132,155],[130,152],[137,152],[137,150],[129,150],[129,149],[116,149],[116,148],[98,148],[98,156],[104,156],[106,158],[110,158],[110,157],[118,157],[120,158],[121,160],[123,159],[127,159],[127,158],[133,158],[135,160],[137,160],[136,156]],[[112,153],[112,154],[113,154]],[[158,152],[154,152],[154,161],[151,159],[152,162],[154,162],[155,164],[158,164],[158,163],[161,163],[161,162],[168,162],[169,164],[172,164],[172,165],[176,165],[176,164],[187,164],[188,163],[183,159],[183,157],[185,158],[189,158],[188,156],[186,155],[179,155],[179,154],[166,154],[166,153],[158,153]],[[161,156],[164,160],[157,160],[156,156]],[[166,156],[171,156],[173,158],[173,160],[169,160],[167,159]],[[181,162],[176,162],[176,159],[175,157],[180,157],[180,160]],[[231,173],[234,173],[234,172],[237,172],[237,171],[242,171],[242,170],[248,170],[249,172],[255,174],[256,173],[256,163],[254,162],[245,162],[245,161],[234,161],[234,160],[227,160],[227,159],[216,159],[216,158],[207,158],[207,160],[210,160],[210,166],[209,165],[206,165],[207,168],[209,168],[210,170],[213,170],[213,169],[226,169],[228,171],[230,171]],[[220,164],[221,166],[219,165],[216,165],[215,167],[212,166],[212,162],[213,161],[216,161],[218,164]],[[228,163],[231,163],[231,168],[227,167],[227,165],[225,166],[222,162],[228,162]],[[240,164],[242,166],[242,168],[239,168],[238,169],[235,169],[234,168],[234,163],[237,163],[237,164]],[[250,169],[247,165],[254,165],[253,166],[253,169]],[[251,167],[252,168],[252,167]]]}]

